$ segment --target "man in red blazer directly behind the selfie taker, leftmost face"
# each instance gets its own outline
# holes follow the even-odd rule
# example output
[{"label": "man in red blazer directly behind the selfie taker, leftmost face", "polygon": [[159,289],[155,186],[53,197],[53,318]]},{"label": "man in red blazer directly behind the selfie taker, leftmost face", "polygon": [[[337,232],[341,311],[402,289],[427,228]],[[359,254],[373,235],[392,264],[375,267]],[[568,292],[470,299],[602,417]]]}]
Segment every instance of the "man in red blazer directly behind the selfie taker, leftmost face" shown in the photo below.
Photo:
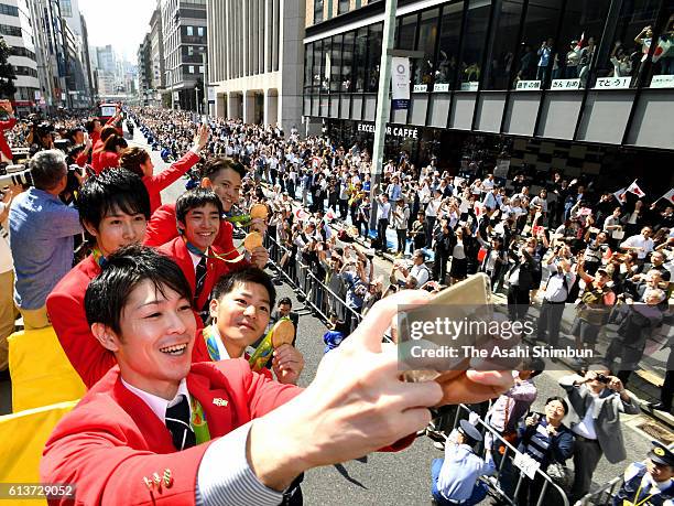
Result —
[{"label": "man in red blazer directly behind the selfie taker, leftmost face", "polygon": [[[89,177],[79,190],[77,207],[83,226],[95,241],[94,254],[63,277],[47,297],[46,306],[66,356],[90,388],[116,360],[91,334],[84,310],[85,292],[109,255],[142,241],[150,217],[150,198],[141,179],[120,169]],[[200,351],[195,348],[196,353]],[[195,358],[207,357],[206,354]]]}]

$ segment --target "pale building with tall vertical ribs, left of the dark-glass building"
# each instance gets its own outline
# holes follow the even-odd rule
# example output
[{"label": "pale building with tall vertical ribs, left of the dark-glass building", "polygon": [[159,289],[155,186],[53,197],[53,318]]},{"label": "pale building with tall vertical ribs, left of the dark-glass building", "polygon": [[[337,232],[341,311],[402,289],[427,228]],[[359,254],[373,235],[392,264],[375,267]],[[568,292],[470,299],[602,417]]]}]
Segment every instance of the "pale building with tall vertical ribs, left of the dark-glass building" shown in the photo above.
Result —
[{"label": "pale building with tall vertical ribs, left of the dark-glass building", "polygon": [[300,127],[304,24],[301,0],[208,1],[217,116]]}]

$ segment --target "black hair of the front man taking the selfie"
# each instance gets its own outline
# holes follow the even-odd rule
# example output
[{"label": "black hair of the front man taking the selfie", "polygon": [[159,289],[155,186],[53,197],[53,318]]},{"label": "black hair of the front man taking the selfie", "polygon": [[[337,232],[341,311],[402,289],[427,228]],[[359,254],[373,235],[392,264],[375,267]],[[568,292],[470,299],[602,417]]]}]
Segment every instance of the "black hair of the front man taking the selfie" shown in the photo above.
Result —
[{"label": "black hair of the front man taking the selfie", "polygon": [[168,257],[141,245],[126,246],[110,255],[85,293],[87,322],[102,323],[120,334],[120,320],[129,295],[143,281],[150,281],[164,297],[166,289],[192,301],[192,289],[181,268]]}]

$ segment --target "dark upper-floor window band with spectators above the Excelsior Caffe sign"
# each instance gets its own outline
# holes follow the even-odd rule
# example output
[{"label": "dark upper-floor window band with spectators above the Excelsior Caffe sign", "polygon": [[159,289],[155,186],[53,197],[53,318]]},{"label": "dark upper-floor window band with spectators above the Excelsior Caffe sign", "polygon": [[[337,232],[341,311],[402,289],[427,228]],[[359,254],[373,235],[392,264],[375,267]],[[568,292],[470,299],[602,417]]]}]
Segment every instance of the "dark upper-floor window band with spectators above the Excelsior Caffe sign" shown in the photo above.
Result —
[{"label": "dark upper-floor window band with spectators above the Excelsior Caffe sign", "polygon": [[[338,13],[348,3],[339,1]],[[668,6],[660,0],[447,1],[399,17],[394,47],[423,53],[411,62],[411,90],[417,91],[674,88],[674,9]],[[322,21],[324,2],[314,7],[315,22]],[[382,34],[378,22],[307,43],[305,94],[377,93]]]}]

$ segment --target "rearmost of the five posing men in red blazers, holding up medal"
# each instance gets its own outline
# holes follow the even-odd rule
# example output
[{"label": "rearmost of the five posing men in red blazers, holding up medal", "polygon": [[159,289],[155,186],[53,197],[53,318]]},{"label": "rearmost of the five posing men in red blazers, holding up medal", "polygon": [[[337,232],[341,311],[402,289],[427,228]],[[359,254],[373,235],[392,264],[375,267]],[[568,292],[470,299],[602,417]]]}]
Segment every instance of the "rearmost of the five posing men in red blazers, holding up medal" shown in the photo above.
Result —
[{"label": "rearmost of the five posing men in red blazers, holding up medal", "polygon": [[[238,162],[228,158],[216,158],[210,160],[203,170],[204,177],[202,186],[211,189],[222,203],[224,214],[229,214],[231,207],[239,203],[241,192],[241,180],[246,176],[246,169]],[[175,226],[175,204],[164,204],[159,207],[148,223],[148,232],[143,244],[145,246],[162,246],[171,239],[177,237],[178,232]],[[254,224],[263,232],[264,224]],[[227,255],[228,258],[236,258],[239,254],[235,251],[232,239],[233,226],[222,219],[220,230],[214,241],[222,251],[233,251]],[[264,268],[269,261],[269,252],[263,247],[256,248],[251,255],[251,262],[259,268]],[[232,263],[232,269],[249,265],[247,260]]]}]

